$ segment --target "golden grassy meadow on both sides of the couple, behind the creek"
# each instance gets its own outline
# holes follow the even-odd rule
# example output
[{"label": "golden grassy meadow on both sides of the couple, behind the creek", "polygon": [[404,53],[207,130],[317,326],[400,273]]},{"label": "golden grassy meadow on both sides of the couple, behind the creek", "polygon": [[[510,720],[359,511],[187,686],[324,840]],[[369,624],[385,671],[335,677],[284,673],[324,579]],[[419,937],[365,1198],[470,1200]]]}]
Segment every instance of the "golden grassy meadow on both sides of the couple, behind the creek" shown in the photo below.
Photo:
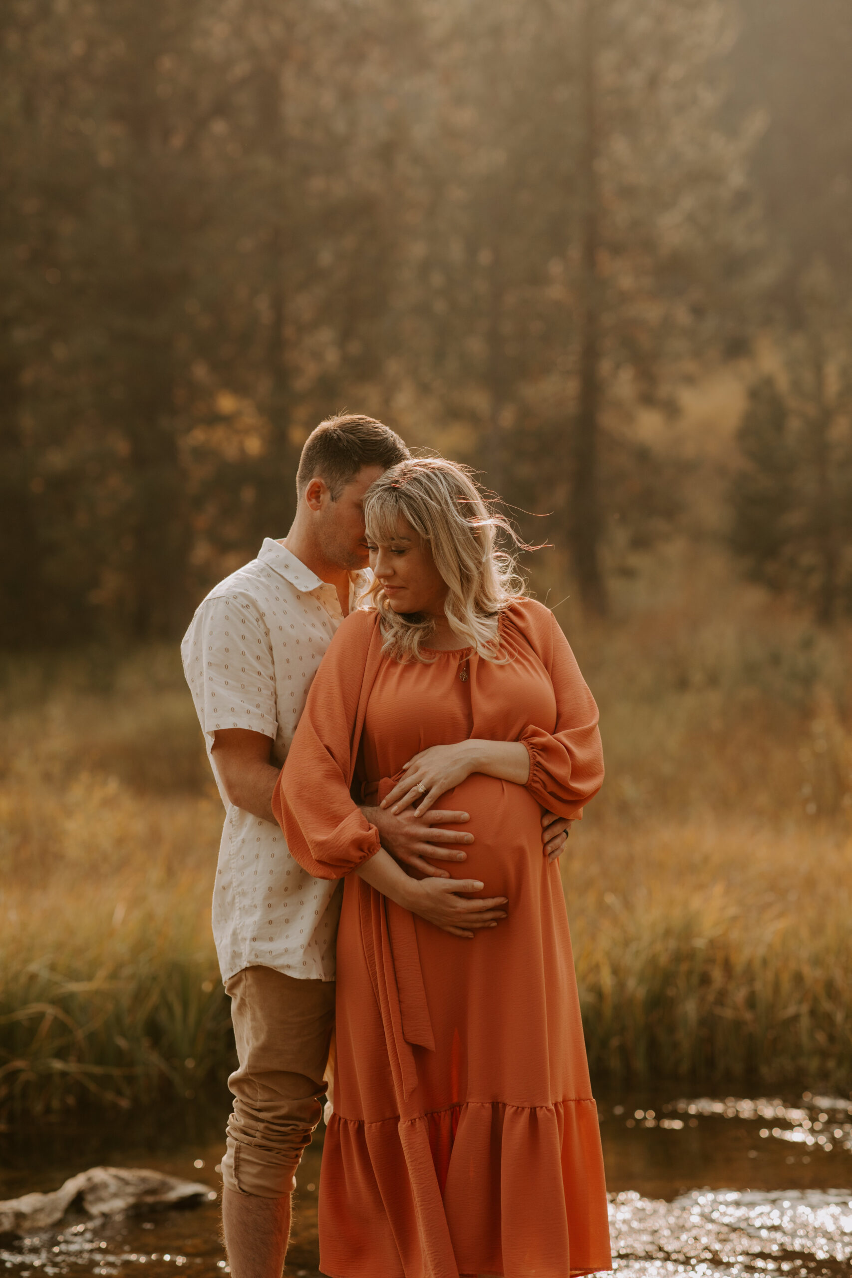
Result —
[{"label": "golden grassy meadow on both sides of the couple, behind the creek", "polygon": [[[562,859],[593,1075],[846,1091],[849,631],[710,551],[654,565],[605,626],[557,610],[608,760]],[[221,1088],[222,812],[176,647],[6,658],[0,712],[0,1117]]]}]

